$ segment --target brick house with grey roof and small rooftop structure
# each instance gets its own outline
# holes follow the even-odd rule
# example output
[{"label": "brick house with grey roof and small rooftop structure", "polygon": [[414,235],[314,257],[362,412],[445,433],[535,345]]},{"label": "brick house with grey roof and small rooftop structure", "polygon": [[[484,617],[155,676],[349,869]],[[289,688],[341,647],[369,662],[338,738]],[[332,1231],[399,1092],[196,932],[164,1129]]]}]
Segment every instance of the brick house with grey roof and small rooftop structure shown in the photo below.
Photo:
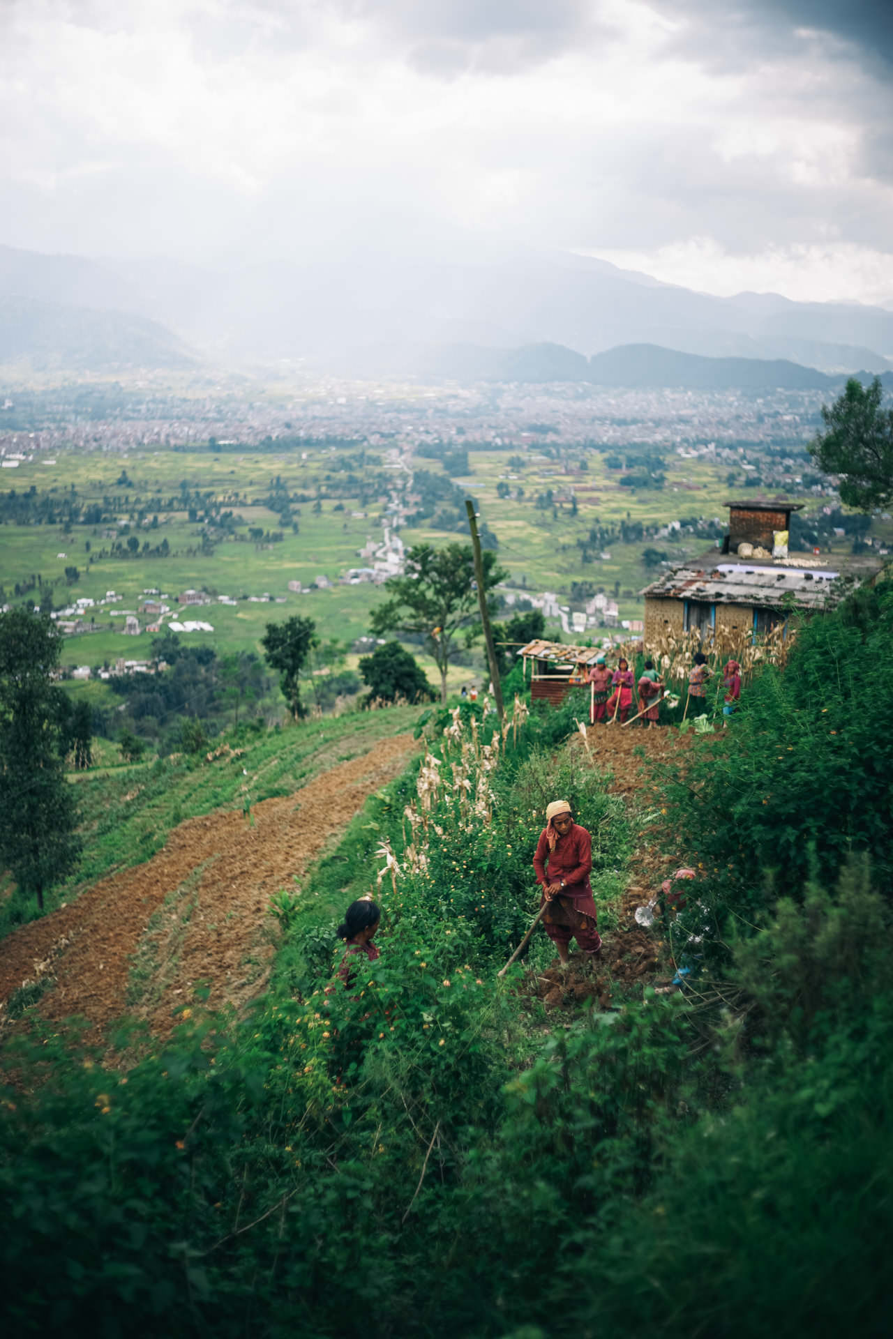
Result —
[{"label": "brick house with grey roof and small rooftop structure", "polygon": [[815,612],[846,589],[873,582],[884,562],[874,554],[789,554],[793,502],[731,502],[720,549],[665,572],[645,586],[645,644],[664,632],[710,637],[718,625],[752,635],[787,621],[789,611]]}]

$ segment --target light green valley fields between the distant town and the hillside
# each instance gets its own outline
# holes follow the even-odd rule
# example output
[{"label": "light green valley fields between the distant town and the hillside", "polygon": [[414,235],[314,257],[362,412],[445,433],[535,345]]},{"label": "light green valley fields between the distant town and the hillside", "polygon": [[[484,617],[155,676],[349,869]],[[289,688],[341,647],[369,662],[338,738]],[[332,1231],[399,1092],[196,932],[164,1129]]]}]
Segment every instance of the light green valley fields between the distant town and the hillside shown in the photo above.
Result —
[{"label": "light green valley fields between the distant town and the hillside", "polygon": [[[169,617],[202,619],[213,624],[213,633],[190,635],[190,644],[208,641],[217,651],[258,652],[265,624],[295,613],[312,617],[323,639],[349,643],[368,631],[370,611],[384,597],[380,588],[335,584],[329,589],[292,593],[288,582],[300,580],[307,585],[319,576],[337,582],[348,566],[361,564],[357,550],[368,537],[376,542],[382,540],[384,502],[394,474],[383,469],[382,453],[376,455],[376,463],[357,466],[355,471],[357,494],[364,491],[360,499],[340,491],[344,465],[351,465],[347,449],[309,451],[303,459],[301,451],[245,450],[214,455],[208,447],[189,451],[165,447],[110,454],[62,447],[55,463],[48,463],[46,457],[23,462],[15,471],[4,471],[3,483],[19,494],[33,487],[56,501],[74,486],[82,502],[103,503],[104,499],[106,513],[111,510],[118,518],[119,540],[122,534],[135,534],[141,545],[147,541],[153,546],[166,540],[170,552],[165,557],[102,556],[103,548],[108,550],[114,542],[108,522],[74,525],[70,533],[64,533],[62,525],[5,524],[0,528],[0,586],[7,600],[13,599],[16,584],[23,595],[39,600],[37,589],[27,589],[31,577],[39,573],[44,582],[55,582],[55,608],[78,596],[99,601],[107,590],[122,596],[116,604],[87,611],[87,623],[92,617],[95,631],[67,640],[63,652],[67,665],[99,667],[114,664],[122,656],[147,657],[153,633],[143,631],[126,636],[123,616],[118,612],[137,612],[147,589],[158,589],[169,597],[166,603],[174,611]],[[748,497],[744,490],[730,490],[723,482],[723,470],[700,459],[668,455],[664,489],[633,490],[621,486],[623,471],[609,470],[605,455],[597,451],[565,453],[574,473],[564,473],[561,462],[533,447],[523,453],[523,467],[511,470],[509,458],[513,455],[518,457],[518,447],[471,451],[470,477],[457,481],[478,498],[481,517],[497,536],[499,561],[510,584],[532,593],[553,590],[566,604],[572,582],[586,581],[594,590],[616,593],[621,619],[641,617],[639,590],[655,574],[643,562],[645,546],[651,544],[669,560],[681,561],[707,545],[691,536],[684,544],[673,538],[611,542],[611,557],[601,558],[601,546],[596,544],[589,545],[592,561],[584,564],[581,542],[586,541],[593,525],[664,525],[692,516],[723,517],[727,501]],[[588,469],[581,473],[576,466],[584,457]],[[430,458],[415,458],[412,465],[432,474],[442,473],[440,463]],[[126,483],[119,482],[122,470]],[[311,499],[292,503],[299,533],[281,526],[277,513],[264,505],[274,478],[287,493]],[[498,497],[499,481],[509,483],[510,498]],[[514,497],[519,486],[523,489],[521,501]],[[560,497],[569,487],[576,493],[576,514],[558,501],[545,510],[537,507],[537,494],[552,489]],[[181,505],[170,505],[195,491],[212,494],[234,516],[232,533],[212,530],[210,545],[202,541],[201,520],[190,521]],[[315,509],[313,498],[317,497]],[[353,517],[355,510],[363,510],[364,516]],[[151,520],[155,516],[157,525]],[[282,538],[257,542],[249,536],[250,528],[281,530]],[[432,529],[430,522],[418,529],[404,526],[400,536],[406,545],[466,538],[458,529]],[[64,568],[70,565],[76,566],[80,576],[67,585]],[[181,609],[178,615],[177,596],[187,588],[209,592],[213,603]],[[264,593],[273,599],[269,603],[248,599]],[[217,596],[229,596],[237,604],[218,604]],[[274,603],[277,599],[284,603]],[[141,616],[141,627],[145,624]],[[422,660],[430,678],[435,678],[432,661],[424,656]],[[348,661],[352,667],[355,663]],[[479,656],[477,664],[482,670]],[[469,680],[474,672],[474,667],[454,667],[451,686]]]}]

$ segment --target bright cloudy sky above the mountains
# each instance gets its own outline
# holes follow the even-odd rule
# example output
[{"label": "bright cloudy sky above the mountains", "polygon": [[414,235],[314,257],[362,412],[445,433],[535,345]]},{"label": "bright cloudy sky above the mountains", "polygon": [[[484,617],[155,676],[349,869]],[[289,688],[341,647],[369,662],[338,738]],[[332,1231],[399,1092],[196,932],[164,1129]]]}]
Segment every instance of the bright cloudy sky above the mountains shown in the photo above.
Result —
[{"label": "bright cloudy sky above the mountains", "polygon": [[890,0],[0,0],[0,242],[893,299]]}]

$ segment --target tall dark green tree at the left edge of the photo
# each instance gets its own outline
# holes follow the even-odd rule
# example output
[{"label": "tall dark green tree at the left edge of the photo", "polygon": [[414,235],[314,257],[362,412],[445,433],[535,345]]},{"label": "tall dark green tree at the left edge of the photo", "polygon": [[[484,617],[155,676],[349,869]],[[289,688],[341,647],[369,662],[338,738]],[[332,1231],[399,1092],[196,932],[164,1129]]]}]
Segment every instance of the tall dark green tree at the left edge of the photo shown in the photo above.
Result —
[{"label": "tall dark green tree at the left edge of the photo", "polygon": [[0,613],[0,861],[42,909],[46,889],[74,869],[80,850],[63,761],[71,710],[50,678],[60,648],[50,619]]}]

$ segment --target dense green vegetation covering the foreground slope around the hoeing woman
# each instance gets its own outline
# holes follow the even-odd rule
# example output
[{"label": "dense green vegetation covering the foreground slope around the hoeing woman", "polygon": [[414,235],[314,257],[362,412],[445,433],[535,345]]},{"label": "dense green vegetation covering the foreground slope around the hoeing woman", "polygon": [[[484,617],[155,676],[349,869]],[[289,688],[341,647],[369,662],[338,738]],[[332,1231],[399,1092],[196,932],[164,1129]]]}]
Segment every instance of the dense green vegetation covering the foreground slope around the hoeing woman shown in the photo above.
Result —
[{"label": "dense green vegetation covering the foreground slope around the hoeing woman", "polygon": [[[694,968],[679,995],[556,1020],[521,968],[498,986],[545,802],[570,794],[596,834],[608,929],[640,825],[663,818],[556,754],[570,707],[497,740],[465,704],[427,715],[428,755],[370,801],[316,896],[282,900],[249,1020],[183,1016],[126,1075],[37,1028],[12,1060],[40,1082],[8,1089],[0,1122],[17,1332],[114,1336],[138,1314],[147,1335],[882,1334],[889,766],[843,667],[889,674],[892,608],[877,592],[813,621],[786,676],[696,743],[689,797],[665,806],[706,866],[668,927]],[[762,805],[760,773],[795,818]],[[846,789],[858,811],[817,815],[811,864],[785,845]],[[370,888],[382,957],[327,992],[335,924]],[[548,957],[534,940],[529,964]]]}]

